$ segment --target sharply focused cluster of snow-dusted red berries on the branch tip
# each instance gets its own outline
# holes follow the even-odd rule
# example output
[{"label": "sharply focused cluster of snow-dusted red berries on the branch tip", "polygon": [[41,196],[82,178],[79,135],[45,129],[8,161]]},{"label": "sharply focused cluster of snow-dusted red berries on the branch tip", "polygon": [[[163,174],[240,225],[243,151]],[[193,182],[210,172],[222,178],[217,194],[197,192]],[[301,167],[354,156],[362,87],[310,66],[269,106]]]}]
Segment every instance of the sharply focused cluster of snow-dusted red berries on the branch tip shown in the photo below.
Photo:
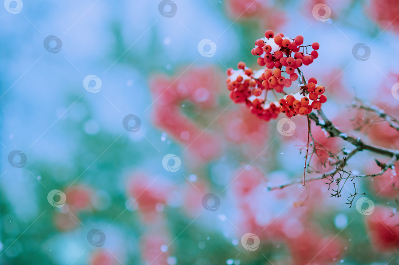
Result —
[{"label": "sharply focused cluster of snow-dusted red berries on the branch tip", "polygon": [[[307,115],[313,109],[320,109],[321,104],[327,101],[327,97],[322,95],[325,88],[316,87],[315,78],[310,78],[306,84],[299,70],[300,66],[310,65],[319,56],[316,51],[319,49],[319,43],[302,44],[301,35],[290,39],[282,33],[274,35],[273,31],[266,31],[265,37],[256,40],[256,46],[252,49],[253,55],[261,56],[257,60],[258,65],[266,66],[266,68],[254,71],[243,62],[238,63],[237,70],[229,68],[226,83],[230,90],[230,98],[235,103],[245,103],[252,113],[266,121],[277,118],[280,112],[292,117],[297,114]],[[308,47],[313,49],[310,54]],[[292,56],[293,53],[294,56]],[[299,78],[295,70],[298,70],[301,77],[299,79],[300,92],[287,95],[284,87],[291,87],[292,82]],[[275,102],[267,100],[267,92],[273,89],[277,93],[284,94],[284,99]]]}]

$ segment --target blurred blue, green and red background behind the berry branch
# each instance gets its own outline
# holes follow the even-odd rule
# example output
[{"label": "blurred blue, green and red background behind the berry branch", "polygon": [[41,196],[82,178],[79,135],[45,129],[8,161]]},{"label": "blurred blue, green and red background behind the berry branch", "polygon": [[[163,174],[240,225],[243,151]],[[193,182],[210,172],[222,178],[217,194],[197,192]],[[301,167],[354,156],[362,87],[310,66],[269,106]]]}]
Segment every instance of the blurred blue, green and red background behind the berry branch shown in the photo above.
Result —
[{"label": "blurred blue, green and red background behind the berry branch", "polygon": [[[225,83],[239,61],[260,68],[266,30],[301,34],[320,43],[302,71],[326,86],[329,118],[398,149],[397,131],[348,108],[398,113],[398,16],[395,0],[4,0],[0,263],[399,264],[395,170],[340,198],[324,180],[268,191],[302,177],[306,118],[281,135]],[[348,170],[378,172],[373,157]],[[366,197],[349,207],[353,183]]]}]

